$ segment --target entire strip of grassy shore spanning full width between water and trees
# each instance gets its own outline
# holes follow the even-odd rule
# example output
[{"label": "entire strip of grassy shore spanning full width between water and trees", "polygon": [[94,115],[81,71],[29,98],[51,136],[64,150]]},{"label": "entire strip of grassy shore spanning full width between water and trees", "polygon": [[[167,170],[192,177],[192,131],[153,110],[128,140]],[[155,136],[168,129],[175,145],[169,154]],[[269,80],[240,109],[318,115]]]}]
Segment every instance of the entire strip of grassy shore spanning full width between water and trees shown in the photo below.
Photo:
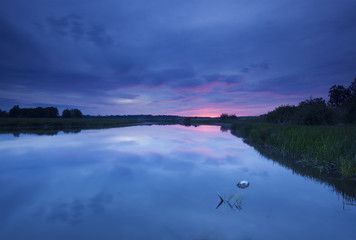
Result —
[{"label": "entire strip of grassy shore spanning full width between water and trees", "polygon": [[[320,173],[356,180],[356,126],[305,126],[263,123],[259,118],[0,118],[0,132],[56,134],[150,124],[218,125],[241,137],[264,155],[281,156]],[[48,132],[49,130],[57,130]]]}]

